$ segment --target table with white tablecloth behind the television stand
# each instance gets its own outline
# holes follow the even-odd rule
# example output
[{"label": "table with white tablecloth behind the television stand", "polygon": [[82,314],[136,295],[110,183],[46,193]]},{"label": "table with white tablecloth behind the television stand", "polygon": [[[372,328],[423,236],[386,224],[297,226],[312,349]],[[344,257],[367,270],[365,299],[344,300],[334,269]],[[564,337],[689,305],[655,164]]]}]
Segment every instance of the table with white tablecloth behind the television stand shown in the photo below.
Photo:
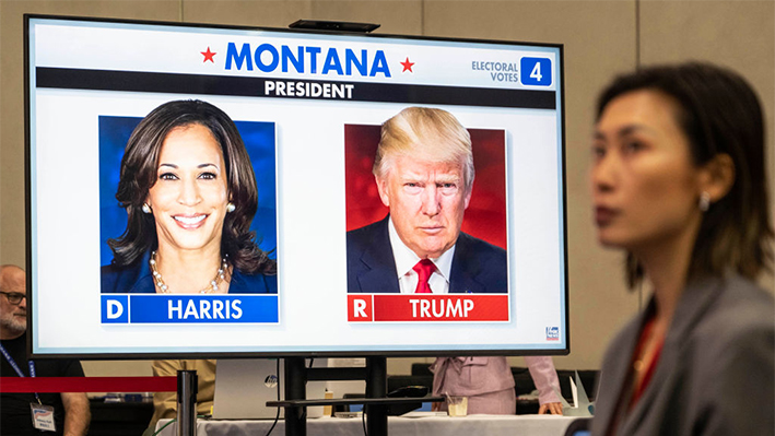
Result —
[{"label": "table with white tablecloth behind the television stand", "polygon": [[[552,415],[470,415],[462,417],[388,417],[388,435],[392,436],[563,436],[565,428],[576,417]],[[169,420],[158,422],[161,428]],[[272,426],[272,420],[228,421],[198,420],[197,436],[263,436]],[[307,419],[307,436],[363,436],[360,417]],[[176,436],[177,426],[172,424],[160,436]],[[284,436],[283,420],[272,431],[272,436]]]}]

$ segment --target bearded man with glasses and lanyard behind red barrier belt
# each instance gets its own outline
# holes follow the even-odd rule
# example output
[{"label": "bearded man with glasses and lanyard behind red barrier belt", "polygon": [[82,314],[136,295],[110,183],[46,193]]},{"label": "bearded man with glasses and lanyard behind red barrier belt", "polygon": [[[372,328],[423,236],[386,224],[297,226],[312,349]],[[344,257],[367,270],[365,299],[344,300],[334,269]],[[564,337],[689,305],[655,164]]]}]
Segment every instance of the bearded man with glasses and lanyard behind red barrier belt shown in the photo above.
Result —
[{"label": "bearded man with glasses and lanyard behind red barrier belt", "polygon": [[[83,377],[81,363],[70,360],[28,361],[27,294],[24,271],[0,266],[0,377]],[[85,435],[91,414],[83,392],[2,392],[0,434]]]}]

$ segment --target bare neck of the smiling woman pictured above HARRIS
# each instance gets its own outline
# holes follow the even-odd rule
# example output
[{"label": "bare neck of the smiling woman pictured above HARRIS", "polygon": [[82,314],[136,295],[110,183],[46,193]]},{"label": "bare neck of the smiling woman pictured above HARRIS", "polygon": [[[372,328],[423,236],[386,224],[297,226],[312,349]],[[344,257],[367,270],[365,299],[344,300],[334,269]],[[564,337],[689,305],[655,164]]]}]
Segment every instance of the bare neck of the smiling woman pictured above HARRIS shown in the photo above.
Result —
[{"label": "bare neck of the smiling woman pictured above HARRIS", "polygon": [[167,292],[198,293],[210,286],[222,267],[220,244],[198,250],[180,250],[160,245],[156,269],[162,274]]}]

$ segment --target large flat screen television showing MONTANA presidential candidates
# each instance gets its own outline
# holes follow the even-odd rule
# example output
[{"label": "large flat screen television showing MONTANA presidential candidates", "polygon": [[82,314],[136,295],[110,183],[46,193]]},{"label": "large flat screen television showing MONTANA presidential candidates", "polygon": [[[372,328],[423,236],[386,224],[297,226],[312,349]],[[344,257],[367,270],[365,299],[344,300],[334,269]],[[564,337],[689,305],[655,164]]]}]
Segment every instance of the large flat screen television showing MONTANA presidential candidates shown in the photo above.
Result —
[{"label": "large flat screen television showing MONTANA presidential candidates", "polygon": [[[561,45],[25,20],[33,356],[568,353]],[[474,176],[407,169],[423,137],[386,197],[380,126],[410,113]],[[444,213],[442,293],[368,264]]]}]

